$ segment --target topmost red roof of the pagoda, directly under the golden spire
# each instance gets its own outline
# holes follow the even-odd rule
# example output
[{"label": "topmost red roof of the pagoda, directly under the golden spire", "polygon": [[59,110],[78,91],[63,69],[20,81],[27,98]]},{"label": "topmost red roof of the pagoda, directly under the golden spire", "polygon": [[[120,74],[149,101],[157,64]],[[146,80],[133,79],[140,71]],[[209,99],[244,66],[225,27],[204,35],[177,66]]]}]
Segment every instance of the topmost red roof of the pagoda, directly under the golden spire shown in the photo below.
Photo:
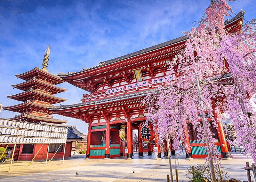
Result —
[{"label": "topmost red roof of the pagoda, directly under the golden spire", "polygon": [[25,73],[16,75],[16,77],[21,78],[23,80],[29,80],[38,74],[42,74],[44,76],[50,77],[51,79],[53,79],[55,81],[56,84],[60,84],[60,83],[64,82],[59,76],[53,75],[52,73],[50,73],[46,70],[40,69],[38,67],[31,69],[30,71],[27,71]]}]

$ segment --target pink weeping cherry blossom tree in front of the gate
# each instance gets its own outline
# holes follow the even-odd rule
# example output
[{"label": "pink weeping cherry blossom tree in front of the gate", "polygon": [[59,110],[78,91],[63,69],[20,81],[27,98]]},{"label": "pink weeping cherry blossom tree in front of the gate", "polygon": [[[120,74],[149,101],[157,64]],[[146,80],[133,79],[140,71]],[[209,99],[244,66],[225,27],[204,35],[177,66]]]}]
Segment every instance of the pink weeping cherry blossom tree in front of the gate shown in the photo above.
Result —
[{"label": "pink weeping cherry blossom tree in front of the gate", "polygon": [[186,47],[168,63],[177,79],[168,79],[144,100],[147,120],[154,121],[160,138],[169,135],[175,150],[180,150],[191,122],[198,140],[206,141],[208,154],[213,154],[209,157],[217,160],[210,122],[202,121],[205,111],[210,117],[225,112],[235,126],[238,145],[256,163],[256,113],[249,100],[256,93],[255,20],[244,20],[244,25],[241,21],[238,30],[229,33],[224,25],[229,13],[227,0],[212,0],[197,28],[186,33]]}]

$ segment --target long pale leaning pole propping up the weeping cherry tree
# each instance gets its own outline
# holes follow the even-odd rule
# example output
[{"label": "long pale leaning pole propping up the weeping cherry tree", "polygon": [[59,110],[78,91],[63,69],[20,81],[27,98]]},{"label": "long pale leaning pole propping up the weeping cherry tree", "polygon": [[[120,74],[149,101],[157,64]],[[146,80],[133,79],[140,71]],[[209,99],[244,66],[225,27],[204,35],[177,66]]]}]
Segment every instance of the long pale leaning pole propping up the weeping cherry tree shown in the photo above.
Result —
[{"label": "long pale leaning pole propping up the weeping cherry tree", "polygon": [[208,140],[208,131],[206,128],[206,122],[205,122],[205,118],[204,118],[204,104],[201,98],[201,91],[200,91],[200,86],[199,86],[199,82],[198,82],[198,77],[197,77],[197,73],[195,72],[195,78],[196,78],[196,86],[197,86],[197,92],[198,92],[198,98],[199,98],[199,102],[200,102],[200,106],[201,106],[201,117],[202,117],[202,123],[203,123],[203,128],[204,128],[204,136],[205,136],[205,140],[206,140],[206,145],[208,147],[208,149],[210,149],[210,152],[208,152],[208,158],[210,159],[209,163],[210,163],[210,169],[211,169],[211,175],[212,175],[212,182],[216,182],[216,176],[215,176],[215,172],[214,172],[214,165],[213,165],[213,158],[212,158],[212,149],[211,146],[209,144]]}]

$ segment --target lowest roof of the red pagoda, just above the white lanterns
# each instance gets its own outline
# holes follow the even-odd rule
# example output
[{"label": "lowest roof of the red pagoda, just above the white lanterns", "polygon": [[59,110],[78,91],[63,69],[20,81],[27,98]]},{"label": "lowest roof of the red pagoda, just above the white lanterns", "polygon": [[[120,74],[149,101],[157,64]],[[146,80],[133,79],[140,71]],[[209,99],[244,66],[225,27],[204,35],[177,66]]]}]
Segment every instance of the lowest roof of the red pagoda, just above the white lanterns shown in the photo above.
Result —
[{"label": "lowest roof of the red pagoda, just above the white lanterns", "polygon": [[32,115],[32,114],[21,114],[18,116],[15,116],[14,118],[10,118],[10,120],[28,120],[28,121],[43,121],[47,123],[66,123],[66,120],[57,120],[53,119],[51,117],[45,117],[45,116],[37,116],[37,115]]}]

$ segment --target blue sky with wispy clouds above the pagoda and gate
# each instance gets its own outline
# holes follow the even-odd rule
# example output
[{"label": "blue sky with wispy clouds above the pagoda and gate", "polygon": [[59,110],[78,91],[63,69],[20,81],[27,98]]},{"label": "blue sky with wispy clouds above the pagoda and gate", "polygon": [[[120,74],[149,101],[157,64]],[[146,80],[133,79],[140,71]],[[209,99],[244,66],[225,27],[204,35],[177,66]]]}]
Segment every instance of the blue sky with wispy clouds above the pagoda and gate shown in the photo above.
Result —
[{"label": "blue sky with wispy clouds above the pagoda and gate", "polygon": [[[174,1],[32,1],[0,0],[0,103],[12,106],[19,101],[7,95],[21,92],[12,84],[23,82],[15,75],[38,66],[50,44],[48,70],[53,74],[78,71],[99,62],[177,38],[200,20],[210,0]],[[229,2],[233,11],[246,11],[245,19],[255,18],[253,0]],[[232,15],[234,16],[234,15]],[[229,17],[231,19],[232,17]],[[65,105],[79,103],[85,91],[70,84],[58,97]],[[57,104],[56,106],[59,106]],[[19,113],[2,111],[0,117]],[[87,133],[81,120],[59,115]]]}]

